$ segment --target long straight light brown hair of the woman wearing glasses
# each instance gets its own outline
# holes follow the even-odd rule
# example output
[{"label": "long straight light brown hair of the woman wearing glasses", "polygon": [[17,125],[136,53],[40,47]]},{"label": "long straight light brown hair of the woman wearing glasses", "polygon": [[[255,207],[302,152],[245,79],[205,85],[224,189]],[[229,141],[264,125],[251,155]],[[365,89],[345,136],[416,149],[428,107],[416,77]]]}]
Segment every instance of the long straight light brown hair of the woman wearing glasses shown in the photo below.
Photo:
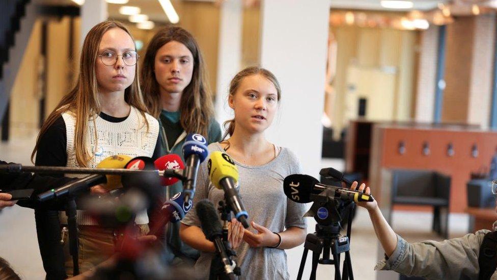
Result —
[{"label": "long straight light brown hair of the woman wearing glasses", "polygon": [[[98,56],[98,47],[102,36],[111,28],[120,28],[124,30],[133,39],[133,36],[124,26],[123,23],[114,20],[106,20],[94,26],[86,35],[85,42],[81,49],[81,59],[79,63],[79,75],[74,88],[66,94],[56,109],[54,109],[48,118],[43,123],[35,148],[31,154],[31,161],[35,157],[40,139],[45,134],[50,125],[56,121],[61,114],[70,111],[76,118],[76,126],[74,131],[74,149],[76,152],[76,160],[79,166],[86,167],[88,161],[93,157],[87,148],[88,121],[93,120],[100,114],[100,98],[98,94],[98,83],[95,73],[95,62]],[[134,39],[133,39],[134,41]],[[138,73],[138,65],[135,67],[135,77],[133,83],[124,90],[124,100],[129,105],[140,111],[140,114],[145,119],[147,129],[149,123],[145,117],[147,107],[145,106],[142,93],[140,91],[140,81]],[[95,139],[96,131],[95,131]],[[95,143],[95,146],[97,143]]]}]

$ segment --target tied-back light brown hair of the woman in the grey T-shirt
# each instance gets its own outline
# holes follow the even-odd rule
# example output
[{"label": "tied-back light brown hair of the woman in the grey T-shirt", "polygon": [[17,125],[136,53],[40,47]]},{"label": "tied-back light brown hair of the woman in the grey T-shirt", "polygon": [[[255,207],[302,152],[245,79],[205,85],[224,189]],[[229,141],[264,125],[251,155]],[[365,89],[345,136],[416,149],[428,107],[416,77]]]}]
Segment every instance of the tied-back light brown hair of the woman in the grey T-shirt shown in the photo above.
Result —
[{"label": "tied-back light brown hair of the woman in the grey T-shirt", "polygon": [[[278,82],[278,79],[276,79],[276,76],[273,73],[271,73],[271,71],[264,69],[262,67],[259,67],[259,66],[247,67],[247,68],[241,70],[240,72],[238,72],[235,75],[235,77],[233,77],[233,79],[231,79],[229,95],[235,95],[236,91],[240,87],[240,84],[241,84],[241,81],[243,80],[243,78],[248,77],[248,76],[252,76],[252,75],[257,75],[257,74],[263,75],[264,78],[269,80],[269,82],[271,82],[274,85],[274,87],[276,88],[276,91],[278,92],[278,103],[280,103],[281,86],[280,86],[280,83]],[[228,137],[228,135],[230,135],[230,136],[233,135],[233,132],[235,131],[235,119],[233,118],[233,119],[227,120],[223,123],[223,125],[226,129],[225,135],[223,135],[223,140],[224,140],[224,139],[226,139],[226,137]]]}]

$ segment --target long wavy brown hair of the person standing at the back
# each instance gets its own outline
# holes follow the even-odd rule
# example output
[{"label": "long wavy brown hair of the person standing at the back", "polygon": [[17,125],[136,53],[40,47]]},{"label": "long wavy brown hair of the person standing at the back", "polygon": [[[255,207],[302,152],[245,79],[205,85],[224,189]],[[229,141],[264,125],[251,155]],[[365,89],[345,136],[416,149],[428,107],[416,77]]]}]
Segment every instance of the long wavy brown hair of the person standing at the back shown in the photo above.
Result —
[{"label": "long wavy brown hair of the person standing at the back", "polygon": [[207,137],[209,121],[214,116],[211,93],[207,82],[202,52],[195,38],[180,27],[169,26],[159,30],[150,41],[142,68],[142,92],[150,113],[158,118],[162,110],[159,84],[155,80],[154,66],[157,51],[163,45],[176,41],[185,45],[194,57],[191,82],[181,95],[180,124],[186,133],[196,132]]}]

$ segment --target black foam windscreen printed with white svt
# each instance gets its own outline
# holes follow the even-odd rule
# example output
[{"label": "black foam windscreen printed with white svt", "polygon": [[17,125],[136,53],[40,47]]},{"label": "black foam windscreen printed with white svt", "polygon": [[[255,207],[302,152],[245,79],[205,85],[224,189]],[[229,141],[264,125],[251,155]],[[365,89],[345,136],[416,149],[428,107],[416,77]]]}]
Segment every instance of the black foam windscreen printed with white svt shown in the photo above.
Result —
[{"label": "black foam windscreen printed with white svt", "polygon": [[311,193],[319,181],[313,176],[304,174],[291,174],[283,181],[283,192],[292,201],[298,203],[311,202]]}]

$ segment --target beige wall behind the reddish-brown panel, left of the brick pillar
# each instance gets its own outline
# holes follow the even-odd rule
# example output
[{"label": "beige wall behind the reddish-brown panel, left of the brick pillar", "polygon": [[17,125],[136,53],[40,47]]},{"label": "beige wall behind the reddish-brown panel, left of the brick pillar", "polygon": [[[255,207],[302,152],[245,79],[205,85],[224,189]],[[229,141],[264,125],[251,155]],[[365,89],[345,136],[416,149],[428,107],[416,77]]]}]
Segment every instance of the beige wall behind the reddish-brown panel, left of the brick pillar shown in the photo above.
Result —
[{"label": "beige wall behind the reddish-brown panel, left of the brick pillar", "polygon": [[[371,120],[410,120],[415,88],[416,31],[332,27],[338,42],[335,98],[326,99],[326,113],[338,138],[357,118],[358,98],[368,98]],[[351,77],[351,75],[355,77]],[[355,92],[354,92],[355,91]]]}]

